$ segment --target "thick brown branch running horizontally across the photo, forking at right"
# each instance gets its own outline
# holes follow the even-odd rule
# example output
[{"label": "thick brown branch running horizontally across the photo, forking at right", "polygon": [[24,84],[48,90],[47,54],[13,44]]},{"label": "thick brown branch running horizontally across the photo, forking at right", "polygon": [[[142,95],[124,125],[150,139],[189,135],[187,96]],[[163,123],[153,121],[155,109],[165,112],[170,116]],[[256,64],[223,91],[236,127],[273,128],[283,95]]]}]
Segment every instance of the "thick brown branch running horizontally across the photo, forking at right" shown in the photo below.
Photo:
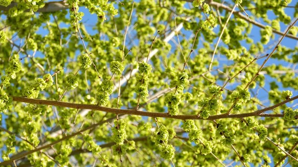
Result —
[{"label": "thick brown branch running horizontally across the photo, forking at right", "polygon": [[[86,104],[76,104],[76,103],[67,103],[67,102],[58,102],[58,101],[52,101],[52,100],[40,100],[40,99],[29,99],[24,97],[16,97],[11,96],[12,101],[14,102],[24,102],[24,103],[30,103],[30,104],[38,104],[38,105],[49,105],[49,106],[59,106],[59,107],[67,107],[67,108],[73,108],[73,109],[89,109],[89,110],[95,110],[95,111],[104,111],[104,112],[110,112],[114,114],[129,114],[129,115],[141,115],[141,116],[149,116],[149,117],[163,117],[163,118],[173,118],[173,119],[203,119],[198,117],[197,115],[169,115],[165,112],[146,112],[146,111],[139,111],[139,110],[128,110],[128,109],[114,109],[114,108],[108,108],[108,107],[101,107],[97,105],[86,105]],[[249,117],[249,116],[261,116],[261,117],[283,117],[283,114],[264,114],[265,111],[270,111],[272,109],[275,109],[281,105],[284,105],[288,102],[291,102],[293,100],[298,99],[298,96],[295,96],[293,98],[290,98],[288,100],[285,100],[281,103],[278,103],[274,106],[258,110],[255,112],[249,112],[249,113],[240,113],[240,114],[219,114],[219,115],[212,115],[207,118],[207,120],[215,120],[215,119],[223,119],[223,118],[243,118],[243,117]],[[298,116],[297,116],[298,117]]]}]

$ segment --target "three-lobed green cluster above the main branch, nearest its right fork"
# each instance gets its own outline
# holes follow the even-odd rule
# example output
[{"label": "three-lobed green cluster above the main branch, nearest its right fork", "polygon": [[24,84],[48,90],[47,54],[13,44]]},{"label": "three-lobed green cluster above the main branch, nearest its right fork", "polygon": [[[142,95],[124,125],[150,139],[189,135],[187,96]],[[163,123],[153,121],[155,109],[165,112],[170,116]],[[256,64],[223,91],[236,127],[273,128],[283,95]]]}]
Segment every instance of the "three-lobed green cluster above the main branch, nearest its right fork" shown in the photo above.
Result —
[{"label": "three-lobed green cluster above the main branch, nearest its right fork", "polygon": [[232,110],[234,113],[239,113],[242,111],[242,104],[250,100],[250,92],[248,89],[239,88],[238,91],[234,90],[232,92],[231,99],[233,102],[236,102]]}]

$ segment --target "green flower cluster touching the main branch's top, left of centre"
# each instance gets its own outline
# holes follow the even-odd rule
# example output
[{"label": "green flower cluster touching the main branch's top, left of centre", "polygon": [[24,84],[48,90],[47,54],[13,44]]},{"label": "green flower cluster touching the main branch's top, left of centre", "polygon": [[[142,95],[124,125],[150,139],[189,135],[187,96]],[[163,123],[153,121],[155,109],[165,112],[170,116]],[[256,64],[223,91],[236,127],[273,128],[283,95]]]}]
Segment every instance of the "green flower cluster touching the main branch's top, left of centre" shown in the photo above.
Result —
[{"label": "green flower cluster touching the main branch's top, left of centre", "polygon": [[106,106],[109,103],[110,95],[113,93],[114,83],[108,79],[102,81],[97,89],[96,99],[99,106]]}]

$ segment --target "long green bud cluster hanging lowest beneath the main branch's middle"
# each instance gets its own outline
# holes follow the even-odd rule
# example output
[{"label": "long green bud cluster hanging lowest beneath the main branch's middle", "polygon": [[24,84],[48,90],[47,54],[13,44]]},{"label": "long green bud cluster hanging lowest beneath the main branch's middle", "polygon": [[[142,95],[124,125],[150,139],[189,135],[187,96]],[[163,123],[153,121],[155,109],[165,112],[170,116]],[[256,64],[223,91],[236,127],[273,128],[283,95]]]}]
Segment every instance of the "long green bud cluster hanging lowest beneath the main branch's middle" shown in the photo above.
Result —
[{"label": "long green bud cluster hanging lowest beneath the main branch's middle", "polygon": [[[171,134],[173,133],[171,132]],[[161,158],[165,160],[171,160],[175,155],[175,148],[173,145],[167,144],[168,139],[174,137],[174,135],[171,134],[164,125],[157,128],[155,132],[154,143],[159,148]]]}]

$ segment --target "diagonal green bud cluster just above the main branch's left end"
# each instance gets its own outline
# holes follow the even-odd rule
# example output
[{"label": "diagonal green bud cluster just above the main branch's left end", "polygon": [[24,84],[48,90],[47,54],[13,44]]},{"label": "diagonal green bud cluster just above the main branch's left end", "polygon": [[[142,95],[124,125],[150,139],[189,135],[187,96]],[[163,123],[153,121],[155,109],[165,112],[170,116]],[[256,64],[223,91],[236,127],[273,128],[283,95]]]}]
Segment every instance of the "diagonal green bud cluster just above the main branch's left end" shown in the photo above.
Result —
[{"label": "diagonal green bud cluster just above the main branch's left end", "polygon": [[45,74],[43,78],[35,78],[35,82],[23,91],[23,96],[27,98],[37,98],[39,91],[53,85],[53,77],[51,74]]}]

